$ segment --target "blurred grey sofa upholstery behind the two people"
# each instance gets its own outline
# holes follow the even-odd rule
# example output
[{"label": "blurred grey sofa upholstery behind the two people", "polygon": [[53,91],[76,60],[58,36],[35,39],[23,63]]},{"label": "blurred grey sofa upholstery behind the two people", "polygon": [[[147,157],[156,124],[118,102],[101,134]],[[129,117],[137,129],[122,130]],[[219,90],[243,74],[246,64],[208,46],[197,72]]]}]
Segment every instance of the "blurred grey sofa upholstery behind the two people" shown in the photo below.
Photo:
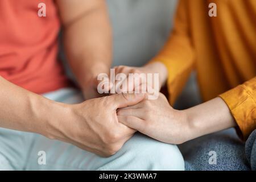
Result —
[{"label": "blurred grey sofa upholstery behind the two people", "polygon": [[[113,27],[113,66],[142,66],[147,63],[170,34],[177,1],[107,0],[107,3]],[[63,53],[61,56],[65,60]],[[70,71],[68,75],[72,75]],[[199,102],[193,74],[175,107],[184,109]]]}]

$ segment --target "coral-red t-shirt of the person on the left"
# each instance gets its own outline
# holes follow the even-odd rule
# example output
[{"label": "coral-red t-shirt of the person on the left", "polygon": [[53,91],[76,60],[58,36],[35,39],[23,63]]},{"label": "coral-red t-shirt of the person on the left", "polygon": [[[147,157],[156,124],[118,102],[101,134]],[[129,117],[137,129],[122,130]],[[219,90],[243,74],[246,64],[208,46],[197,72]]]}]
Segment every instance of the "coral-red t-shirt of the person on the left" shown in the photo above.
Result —
[{"label": "coral-red t-shirt of the person on the left", "polygon": [[[46,16],[39,17],[39,3]],[[57,60],[60,22],[53,0],[0,1],[0,76],[35,93],[69,85]]]}]

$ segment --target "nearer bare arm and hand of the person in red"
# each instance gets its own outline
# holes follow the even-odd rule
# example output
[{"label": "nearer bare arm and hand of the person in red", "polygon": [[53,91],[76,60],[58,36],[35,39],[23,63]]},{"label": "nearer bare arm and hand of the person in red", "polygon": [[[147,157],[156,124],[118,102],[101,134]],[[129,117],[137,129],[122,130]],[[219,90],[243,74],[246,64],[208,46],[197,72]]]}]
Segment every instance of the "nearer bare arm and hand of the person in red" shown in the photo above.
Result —
[{"label": "nearer bare arm and hand of the person in red", "polygon": [[141,100],[143,96],[116,94],[76,105],[62,104],[20,88],[0,76],[0,127],[42,134],[109,156],[135,132],[117,121],[117,108]]}]

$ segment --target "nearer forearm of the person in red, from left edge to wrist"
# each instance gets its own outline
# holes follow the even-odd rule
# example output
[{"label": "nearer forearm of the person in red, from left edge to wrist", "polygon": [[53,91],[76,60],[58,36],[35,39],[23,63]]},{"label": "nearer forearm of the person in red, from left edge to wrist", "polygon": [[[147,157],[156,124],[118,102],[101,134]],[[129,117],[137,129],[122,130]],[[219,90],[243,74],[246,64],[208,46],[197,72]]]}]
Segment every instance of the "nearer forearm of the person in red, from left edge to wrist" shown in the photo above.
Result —
[{"label": "nearer forearm of the person in red, from left edge to wrist", "polygon": [[0,127],[50,135],[53,112],[60,107],[53,101],[28,92],[0,76]]}]

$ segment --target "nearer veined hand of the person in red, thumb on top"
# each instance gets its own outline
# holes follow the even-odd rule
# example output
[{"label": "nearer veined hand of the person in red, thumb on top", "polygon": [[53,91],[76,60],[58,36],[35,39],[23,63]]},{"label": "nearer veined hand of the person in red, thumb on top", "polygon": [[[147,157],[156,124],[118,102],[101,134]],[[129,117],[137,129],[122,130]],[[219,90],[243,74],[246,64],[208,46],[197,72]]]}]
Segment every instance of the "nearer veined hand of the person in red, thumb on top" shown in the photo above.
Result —
[{"label": "nearer veined hand of the person in red, thumb on top", "polygon": [[[115,154],[135,130],[118,122],[117,109],[142,101],[143,94],[115,94],[77,105],[63,105],[61,113],[48,127],[48,138],[75,144],[101,156]],[[60,118],[58,120],[58,118]]]}]

